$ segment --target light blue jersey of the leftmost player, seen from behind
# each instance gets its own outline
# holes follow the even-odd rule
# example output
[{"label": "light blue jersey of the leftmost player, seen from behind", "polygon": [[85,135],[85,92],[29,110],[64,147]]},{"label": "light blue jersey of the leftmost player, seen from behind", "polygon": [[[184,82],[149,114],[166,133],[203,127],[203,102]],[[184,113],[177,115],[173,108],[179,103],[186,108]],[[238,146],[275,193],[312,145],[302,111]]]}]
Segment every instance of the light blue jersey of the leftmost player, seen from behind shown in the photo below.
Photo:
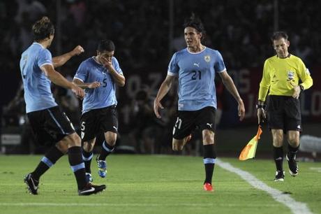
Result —
[{"label": "light blue jersey of the leftmost player, seen from behind", "polygon": [[50,89],[51,81],[40,69],[45,64],[52,65],[52,55],[39,43],[33,43],[22,53],[20,71],[27,113],[57,106]]}]

